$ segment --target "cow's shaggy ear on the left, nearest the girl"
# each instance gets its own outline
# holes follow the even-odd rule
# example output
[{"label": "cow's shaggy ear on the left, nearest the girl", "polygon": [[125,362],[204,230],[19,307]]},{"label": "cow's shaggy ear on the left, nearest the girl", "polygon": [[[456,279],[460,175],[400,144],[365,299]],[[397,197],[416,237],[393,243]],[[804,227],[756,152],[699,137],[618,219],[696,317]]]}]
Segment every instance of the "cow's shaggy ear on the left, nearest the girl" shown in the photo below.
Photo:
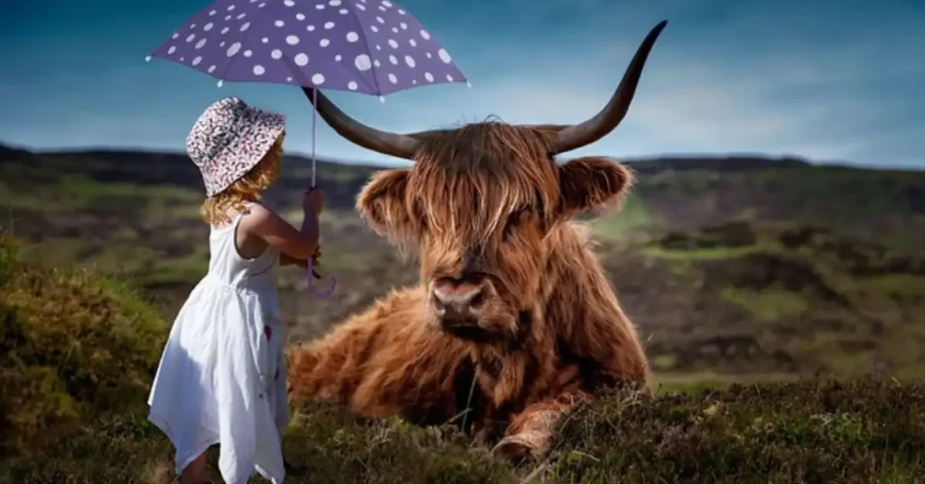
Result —
[{"label": "cow's shaggy ear on the left, nearest the girl", "polygon": [[411,217],[405,205],[408,168],[380,171],[363,187],[356,199],[356,209],[379,235],[402,239],[407,235]]}]

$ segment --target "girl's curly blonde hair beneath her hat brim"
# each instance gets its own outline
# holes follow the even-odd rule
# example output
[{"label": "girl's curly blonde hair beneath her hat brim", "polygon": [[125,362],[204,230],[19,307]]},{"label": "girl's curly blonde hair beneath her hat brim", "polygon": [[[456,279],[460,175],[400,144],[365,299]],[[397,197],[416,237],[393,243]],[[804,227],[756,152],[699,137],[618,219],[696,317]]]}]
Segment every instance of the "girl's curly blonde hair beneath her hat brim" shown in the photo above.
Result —
[{"label": "girl's curly blonde hair beneath her hat brim", "polygon": [[240,212],[244,210],[245,202],[260,200],[266,187],[279,178],[279,160],[283,154],[285,137],[286,131],[283,131],[266,155],[250,171],[235,180],[225,190],[205,199],[199,213],[206,223],[210,225],[231,223],[231,217],[228,217],[230,208]]}]

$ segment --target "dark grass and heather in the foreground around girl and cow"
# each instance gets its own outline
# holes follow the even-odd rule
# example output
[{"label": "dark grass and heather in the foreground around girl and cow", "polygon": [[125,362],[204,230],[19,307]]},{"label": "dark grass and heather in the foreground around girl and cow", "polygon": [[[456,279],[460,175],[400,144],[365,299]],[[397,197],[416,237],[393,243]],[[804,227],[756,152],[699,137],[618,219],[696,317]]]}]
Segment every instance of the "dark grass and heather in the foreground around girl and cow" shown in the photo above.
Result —
[{"label": "dark grass and heather in the foreground around girl and cow", "polygon": [[[674,250],[665,241],[653,250]],[[170,482],[172,449],[143,404],[167,325],[145,299],[93,272],[23,262],[0,236],[0,302],[0,484]],[[294,403],[284,452],[308,471],[287,482],[899,484],[925,474],[921,383],[658,390],[600,395],[564,419],[549,459],[516,464],[452,428]]]}]

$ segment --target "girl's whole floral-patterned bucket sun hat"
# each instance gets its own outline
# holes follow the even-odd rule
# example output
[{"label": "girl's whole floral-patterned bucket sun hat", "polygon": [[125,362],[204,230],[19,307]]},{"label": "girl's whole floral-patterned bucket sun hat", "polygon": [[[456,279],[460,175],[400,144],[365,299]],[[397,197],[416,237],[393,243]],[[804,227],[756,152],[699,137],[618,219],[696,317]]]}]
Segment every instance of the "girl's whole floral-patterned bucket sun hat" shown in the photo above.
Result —
[{"label": "girl's whole floral-patterned bucket sun hat", "polygon": [[237,97],[206,107],[186,137],[186,152],[203,175],[206,195],[222,192],[250,171],[285,128],[285,116]]}]

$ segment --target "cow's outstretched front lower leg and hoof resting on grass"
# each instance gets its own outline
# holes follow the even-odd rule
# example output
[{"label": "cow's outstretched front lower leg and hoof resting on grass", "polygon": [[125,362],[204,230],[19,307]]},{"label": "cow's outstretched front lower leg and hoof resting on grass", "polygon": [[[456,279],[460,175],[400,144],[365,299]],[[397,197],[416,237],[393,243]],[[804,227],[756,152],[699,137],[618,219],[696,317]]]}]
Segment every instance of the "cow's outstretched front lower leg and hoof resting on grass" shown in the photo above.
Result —
[{"label": "cow's outstretched front lower leg and hoof resting on grass", "polygon": [[555,398],[541,400],[527,405],[513,416],[511,424],[491,453],[497,457],[512,459],[527,453],[536,457],[549,451],[549,443],[560,424],[561,417],[576,403],[586,400],[581,391],[562,393]]}]

